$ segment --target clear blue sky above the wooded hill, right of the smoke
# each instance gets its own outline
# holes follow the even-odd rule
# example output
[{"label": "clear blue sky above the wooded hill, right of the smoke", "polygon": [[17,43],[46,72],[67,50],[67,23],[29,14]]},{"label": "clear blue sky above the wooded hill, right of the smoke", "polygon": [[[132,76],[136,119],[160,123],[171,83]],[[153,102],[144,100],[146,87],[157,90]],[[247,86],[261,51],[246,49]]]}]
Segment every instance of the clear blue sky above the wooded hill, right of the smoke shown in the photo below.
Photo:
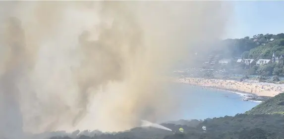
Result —
[{"label": "clear blue sky above the wooded hill, right of the smoke", "polygon": [[234,12],[225,38],[284,33],[284,1],[231,1]]}]

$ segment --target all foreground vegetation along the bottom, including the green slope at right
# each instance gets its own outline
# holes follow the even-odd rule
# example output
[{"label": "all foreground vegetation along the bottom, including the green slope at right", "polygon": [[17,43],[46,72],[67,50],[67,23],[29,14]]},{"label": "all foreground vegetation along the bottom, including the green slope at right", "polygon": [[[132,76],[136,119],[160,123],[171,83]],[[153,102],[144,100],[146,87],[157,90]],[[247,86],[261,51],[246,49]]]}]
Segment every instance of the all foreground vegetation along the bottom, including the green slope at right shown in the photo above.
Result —
[{"label": "all foreground vegetation along the bottom, including the green slope at right", "polygon": [[[182,127],[182,134],[156,128],[134,128],[119,133],[52,139],[284,139],[283,105],[284,94],[279,94],[245,114],[162,124],[173,131]],[[206,132],[202,126],[207,127]]]}]

